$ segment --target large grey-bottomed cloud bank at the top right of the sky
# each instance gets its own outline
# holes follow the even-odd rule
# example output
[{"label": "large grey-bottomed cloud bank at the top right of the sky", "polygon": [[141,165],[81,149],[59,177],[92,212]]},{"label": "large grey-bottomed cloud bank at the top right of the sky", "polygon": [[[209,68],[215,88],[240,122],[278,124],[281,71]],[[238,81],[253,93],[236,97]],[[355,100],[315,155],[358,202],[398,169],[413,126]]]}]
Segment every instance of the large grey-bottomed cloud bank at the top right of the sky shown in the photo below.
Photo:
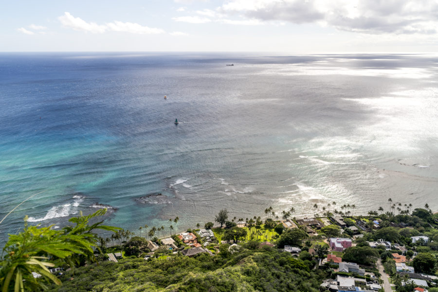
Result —
[{"label": "large grey-bottomed cloud bank at the top right of the sky", "polygon": [[218,11],[260,21],[319,23],[366,34],[437,34],[434,0],[229,0]]}]

